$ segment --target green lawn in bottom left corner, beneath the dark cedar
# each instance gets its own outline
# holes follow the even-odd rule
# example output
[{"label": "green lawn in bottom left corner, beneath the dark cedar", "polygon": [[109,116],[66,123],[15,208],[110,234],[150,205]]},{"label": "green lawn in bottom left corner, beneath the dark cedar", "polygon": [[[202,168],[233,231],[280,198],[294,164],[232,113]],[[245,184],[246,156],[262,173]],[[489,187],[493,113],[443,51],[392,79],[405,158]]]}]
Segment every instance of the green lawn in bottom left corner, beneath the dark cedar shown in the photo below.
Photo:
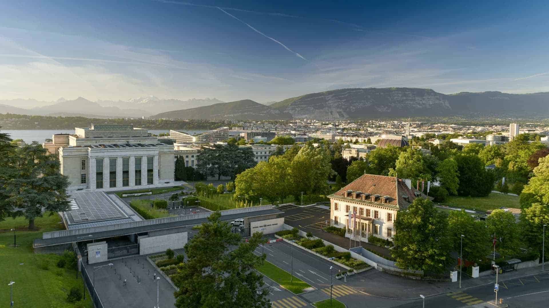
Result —
[{"label": "green lawn in bottom left corner, beneath the dark cedar", "polygon": [[13,285],[13,299],[15,307],[55,307],[55,308],[80,308],[92,307],[89,294],[86,293],[86,301],[75,304],[66,300],[71,287],[82,289],[82,276],[76,279],[75,269],[60,269],[56,266],[59,256],[55,254],[35,254],[32,251],[32,241],[42,237],[43,231],[64,229],[59,224],[60,218],[44,216],[36,219],[36,227],[41,231],[19,231],[19,227],[26,227],[23,219],[11,219],[0,222],[1,229],[18,226],[17,243],[13,248],[13,232],[0,232],[0,303],[9,303],[9,281],[15,281]]}]

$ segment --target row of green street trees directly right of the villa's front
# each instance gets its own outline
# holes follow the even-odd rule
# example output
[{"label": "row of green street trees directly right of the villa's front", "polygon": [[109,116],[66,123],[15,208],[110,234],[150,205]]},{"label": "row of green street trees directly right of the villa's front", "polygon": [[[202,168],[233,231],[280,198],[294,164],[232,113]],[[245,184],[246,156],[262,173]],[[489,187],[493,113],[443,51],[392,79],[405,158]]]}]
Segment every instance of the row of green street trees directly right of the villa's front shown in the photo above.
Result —
[{"label": "row of green street trees directly right of the villa's front", "polygon": [[[452,252],[460,252],[463,259],[482,263],[490,254],[494,236],[501,259],[519,253],[521,225],[514,215],[496,209],[486,221],[475,220],[465,210],[452,211],[448,216],[439,212],[433,202],[417,198],[395,220],[393,256],[402,269],[440,273],[453,264]],[[461,246],[461,236],[463,245]],[[531,246],[537,252],[537,247]]]}]

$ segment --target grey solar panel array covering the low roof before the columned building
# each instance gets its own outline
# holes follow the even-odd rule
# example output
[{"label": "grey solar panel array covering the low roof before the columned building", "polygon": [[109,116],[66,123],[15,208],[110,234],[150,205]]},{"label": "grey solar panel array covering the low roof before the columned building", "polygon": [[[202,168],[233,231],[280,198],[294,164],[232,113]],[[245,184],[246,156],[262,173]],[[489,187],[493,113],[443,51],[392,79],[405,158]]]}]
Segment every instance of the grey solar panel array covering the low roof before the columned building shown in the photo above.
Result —
[{"label": "grey solar panel array covering the low roof before the columned building", "polygon": [[127,218],[102,192],[80,192],[71,195],[77,208],[66,212],[71,223],[85,223],[97,220]]}]

